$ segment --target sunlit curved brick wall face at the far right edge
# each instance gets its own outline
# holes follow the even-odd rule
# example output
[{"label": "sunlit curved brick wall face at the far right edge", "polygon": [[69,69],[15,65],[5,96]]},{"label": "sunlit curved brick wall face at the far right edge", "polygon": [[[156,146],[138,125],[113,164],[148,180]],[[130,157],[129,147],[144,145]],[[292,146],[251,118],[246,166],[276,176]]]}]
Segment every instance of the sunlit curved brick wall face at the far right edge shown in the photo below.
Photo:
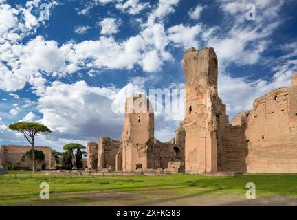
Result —
[{"label": "sunlit curved brick wall face at the far right edge", "polygon": [[297,83],[254,100],[245,131],[247,171],[297,173]]}]

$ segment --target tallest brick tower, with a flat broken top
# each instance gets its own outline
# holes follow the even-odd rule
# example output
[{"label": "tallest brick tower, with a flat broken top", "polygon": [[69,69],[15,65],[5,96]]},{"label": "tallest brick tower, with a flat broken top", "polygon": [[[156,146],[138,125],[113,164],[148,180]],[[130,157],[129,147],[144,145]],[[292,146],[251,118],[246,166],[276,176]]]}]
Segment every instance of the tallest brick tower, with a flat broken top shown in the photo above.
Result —
[{"label": "tallest brick tower, with a flat broken top", "polygon": [[217,56],[212,47],[184,54],[186,76],[186,173],[217,171]]}]

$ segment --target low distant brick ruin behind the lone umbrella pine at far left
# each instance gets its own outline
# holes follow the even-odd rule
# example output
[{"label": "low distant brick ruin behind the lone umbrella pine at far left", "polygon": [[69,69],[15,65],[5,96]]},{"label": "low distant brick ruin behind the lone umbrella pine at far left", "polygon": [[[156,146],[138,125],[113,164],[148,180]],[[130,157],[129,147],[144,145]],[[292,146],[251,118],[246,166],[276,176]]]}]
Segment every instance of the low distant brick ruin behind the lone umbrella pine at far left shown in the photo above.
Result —
[{"label": "low distant brick ruin behind the lone umbrella pine at far left", "polygon": [[[28,164],[25,164],[21,161],[23,155],[32,149],[31,146],[19,146],[19,145],[3,145],[0,149],[0,168],[5,166],[20,166],[26,167]],[[45,154],[45,168],[54,169],[56,168],[56,161],[52,155],[52,148],[48,146],[35,146],[35,149],[38,151],[43,151]],[[41,169],[41,167],[37,167]]]}]

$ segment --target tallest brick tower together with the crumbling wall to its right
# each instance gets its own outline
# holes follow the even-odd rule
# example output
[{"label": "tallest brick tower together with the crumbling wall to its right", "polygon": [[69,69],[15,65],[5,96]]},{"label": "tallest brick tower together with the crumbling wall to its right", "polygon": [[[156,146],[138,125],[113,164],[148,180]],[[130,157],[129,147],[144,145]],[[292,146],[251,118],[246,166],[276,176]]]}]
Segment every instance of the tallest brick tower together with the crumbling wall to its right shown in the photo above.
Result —
[{"label": "tallest brick tower together with the crumbling wall to its right", "polygon": [[187,173],[297,173],[297,75],[292,87],[257,98],[229,122],[217,95],[214,50],[187,50],[184,73]]}]

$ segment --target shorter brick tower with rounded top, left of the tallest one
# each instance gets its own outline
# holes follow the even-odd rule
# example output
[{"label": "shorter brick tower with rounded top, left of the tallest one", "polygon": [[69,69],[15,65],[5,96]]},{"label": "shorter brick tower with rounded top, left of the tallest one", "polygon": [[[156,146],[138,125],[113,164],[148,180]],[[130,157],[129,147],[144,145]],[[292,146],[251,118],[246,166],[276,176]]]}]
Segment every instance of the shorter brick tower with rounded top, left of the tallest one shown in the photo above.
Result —
[{"label": "shorter brick tower with rounded top, left of the tallest one", "polygon": [[[149,111],[151,109],[151,112]],[[122,131],[122,170],[148,167],[148,142],[154,139],[154,113],[144,94],[126,100]]]}]

